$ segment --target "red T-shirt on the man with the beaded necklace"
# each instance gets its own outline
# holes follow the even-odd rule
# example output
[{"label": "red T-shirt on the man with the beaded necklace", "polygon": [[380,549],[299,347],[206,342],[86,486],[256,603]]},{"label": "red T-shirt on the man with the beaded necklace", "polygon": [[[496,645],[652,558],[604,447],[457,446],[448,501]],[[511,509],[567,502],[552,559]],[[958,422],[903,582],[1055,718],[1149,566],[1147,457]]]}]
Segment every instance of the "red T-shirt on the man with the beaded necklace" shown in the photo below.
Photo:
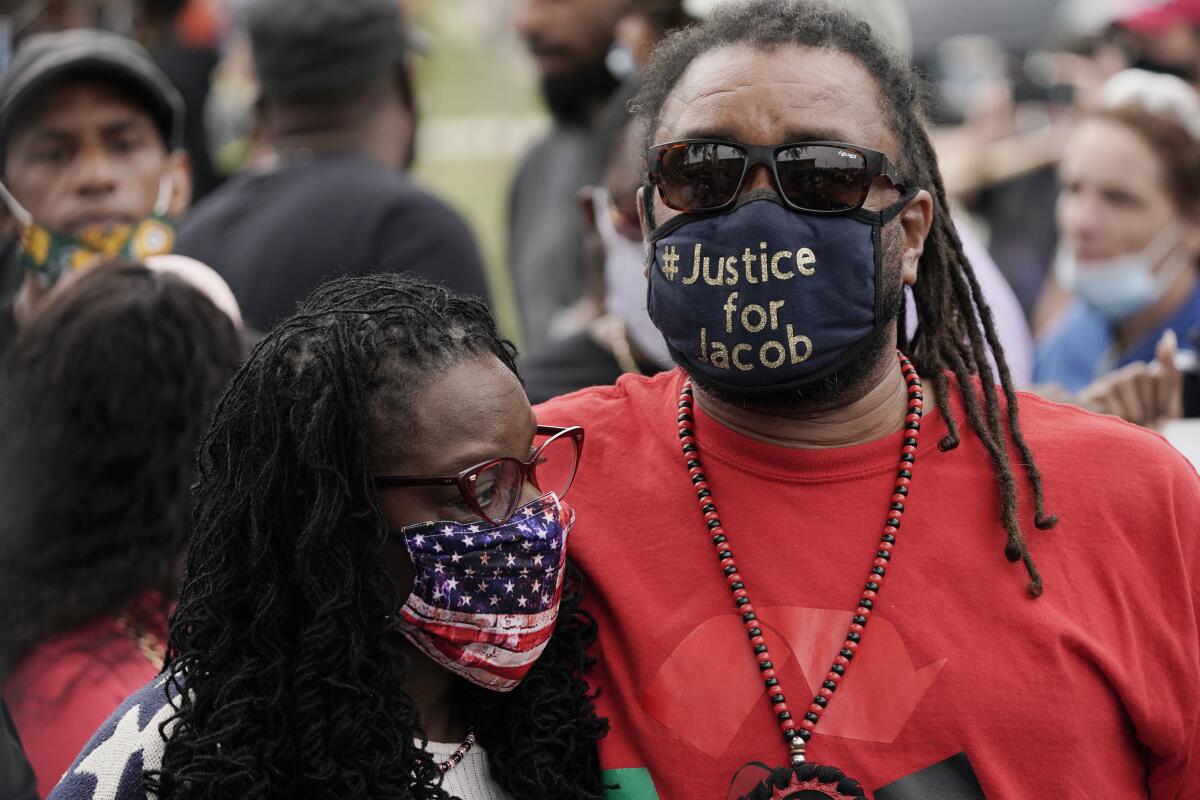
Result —
[{"label": "red T-shirt on the man with the beaded necklace", "polygon": [[[680,453],[683,373],[539,405],[586,427],[570,553],[600,626],[601,765],[616,800],[724,799],[787,751]],[[953,383],[953,381],[952,381]],[[1200,798],[1200,480],[1160,437],[1021,397],[1057,528],[1020,518],[1045,594],[1004,559],[991,463],[926,405],[875,614],[809,760],[904,798]],[[841,646],[890,504],[901,434],[779,447],[695,411],[704,471],[788,705],[809,709]],[[941,781],[941,783],[938,783]],[[978,784],[974,782],[978,781]],[[941,787],[941,788],[938,788]]]}]

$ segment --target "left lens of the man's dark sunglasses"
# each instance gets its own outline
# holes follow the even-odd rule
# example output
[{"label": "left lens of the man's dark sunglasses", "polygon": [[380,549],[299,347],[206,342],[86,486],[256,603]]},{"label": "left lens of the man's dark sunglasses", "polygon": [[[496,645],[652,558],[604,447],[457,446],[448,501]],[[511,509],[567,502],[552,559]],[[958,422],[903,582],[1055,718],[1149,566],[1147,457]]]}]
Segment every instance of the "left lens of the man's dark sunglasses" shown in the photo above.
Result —
[{"label": "left lens of the man's dark sunglasses", "polygon": [[691,143],[667,148],[659,162],[662,201],[677,211],[725,205],[738,192],[746,156],[727,144]]}]

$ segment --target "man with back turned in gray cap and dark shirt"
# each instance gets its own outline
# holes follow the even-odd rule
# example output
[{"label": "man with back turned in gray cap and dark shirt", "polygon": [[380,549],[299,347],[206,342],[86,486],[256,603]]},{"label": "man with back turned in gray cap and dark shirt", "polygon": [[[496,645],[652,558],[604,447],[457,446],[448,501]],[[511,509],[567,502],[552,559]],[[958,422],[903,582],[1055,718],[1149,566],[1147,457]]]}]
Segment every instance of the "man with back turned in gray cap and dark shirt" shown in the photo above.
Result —
[{"label": "man with back turned in gray cap and dark shirt", "polygon": [[337,273],[486,295],[464,222],[402,172],[415,126],[396,1],[254,0],[245,22],[277,160],[206,197],[178,251],[221,272],[260,330]]}]

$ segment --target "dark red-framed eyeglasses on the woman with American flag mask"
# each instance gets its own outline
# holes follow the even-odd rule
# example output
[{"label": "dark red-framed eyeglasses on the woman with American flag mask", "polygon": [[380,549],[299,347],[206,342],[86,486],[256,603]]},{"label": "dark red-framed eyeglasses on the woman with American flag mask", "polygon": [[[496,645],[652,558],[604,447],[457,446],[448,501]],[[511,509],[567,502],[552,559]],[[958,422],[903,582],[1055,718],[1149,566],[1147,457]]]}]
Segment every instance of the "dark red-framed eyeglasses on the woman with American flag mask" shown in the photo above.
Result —
[{"label": "dark red-framed eyeglasses on the woman with American flag mask", "polygon": [[529,461],[510,456],[491,458],[468,467],[457,475],[376,475],[377,488],[400,486],[457,486],[462,499],[480,518],[503,525],[521,505],[521,489],[529,481],[539,492],[553,492],[560,499],[571,488],[583,450],[583,428],[538,426],[538,445]]}]

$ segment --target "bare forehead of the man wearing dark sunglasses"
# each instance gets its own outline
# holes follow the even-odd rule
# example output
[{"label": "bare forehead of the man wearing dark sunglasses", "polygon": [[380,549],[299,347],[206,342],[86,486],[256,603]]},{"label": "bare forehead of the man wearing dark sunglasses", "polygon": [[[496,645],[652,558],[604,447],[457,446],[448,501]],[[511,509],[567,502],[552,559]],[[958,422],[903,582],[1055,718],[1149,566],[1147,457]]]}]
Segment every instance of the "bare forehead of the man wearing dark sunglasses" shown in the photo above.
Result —
[{"label": "bare forehead of the man wearing dark sunglasses", "polygon": [[745,144],[848,142],[895,157],[875,79],[830,49],[730,46],[689,65],[662,106],[656,142],[694,137]]}]

